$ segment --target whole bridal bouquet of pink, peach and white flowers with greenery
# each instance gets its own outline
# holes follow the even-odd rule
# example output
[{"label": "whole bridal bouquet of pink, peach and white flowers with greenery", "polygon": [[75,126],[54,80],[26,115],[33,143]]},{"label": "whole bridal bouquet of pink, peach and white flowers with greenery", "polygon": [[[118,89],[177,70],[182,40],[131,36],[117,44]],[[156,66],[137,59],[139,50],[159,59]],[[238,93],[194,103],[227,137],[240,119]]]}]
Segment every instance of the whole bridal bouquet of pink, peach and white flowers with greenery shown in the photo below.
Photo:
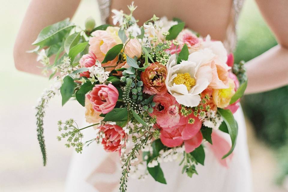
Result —
[{"label": "whole bridal bouquet of pink, peach and white flowers with greenery", "polygon": [[[93,142],[118,152],[120,191],[126,191],[128,176],[140,165],[147,169],[138,178],[150,174],[164,184],[163,161],[179,159],[182,173],[197,174],[195,165],[204,165],[203,146],[212,144],[216,129],[231,137],[232,147],[221,157],[229,156],[238,132],[232,113],[247,86],[243,62],[233,65],[222,42],[199,36],[176,18],[154,15],[139,27],[132,15],[136,7],[128,7],[129,14],[112,10],[119,27],[95,28],[88,18],[82,30],[66,19],[44,28],[33,43],[44,73],[52,71],[49,79],[56,75],[36,107],[44,165],[44,108],[61,94],[62,105],[73,98],[86,108],[91,125],[78,128],[73,119],[59,121],[63,132],[58,140],[67,139],[65,145],[80,153]],[[91,127],[95,135],[82,141],[82,130]]]}]

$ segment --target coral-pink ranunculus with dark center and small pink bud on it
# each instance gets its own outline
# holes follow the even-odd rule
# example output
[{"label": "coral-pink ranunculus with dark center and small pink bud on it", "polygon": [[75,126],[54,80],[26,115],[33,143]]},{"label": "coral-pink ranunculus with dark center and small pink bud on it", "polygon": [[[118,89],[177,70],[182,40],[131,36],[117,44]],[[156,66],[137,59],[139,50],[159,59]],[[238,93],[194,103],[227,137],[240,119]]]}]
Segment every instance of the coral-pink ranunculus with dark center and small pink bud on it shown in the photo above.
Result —
[{"label": "coral-pink ranunculus with dark center and small pink bud on it", "polygon": [[153,102],[156,103],[151,116],[157,117],[157,124],[162,128],[177,126],[180,120],[179,104],[175,97],[169,93],[155,95]]}]

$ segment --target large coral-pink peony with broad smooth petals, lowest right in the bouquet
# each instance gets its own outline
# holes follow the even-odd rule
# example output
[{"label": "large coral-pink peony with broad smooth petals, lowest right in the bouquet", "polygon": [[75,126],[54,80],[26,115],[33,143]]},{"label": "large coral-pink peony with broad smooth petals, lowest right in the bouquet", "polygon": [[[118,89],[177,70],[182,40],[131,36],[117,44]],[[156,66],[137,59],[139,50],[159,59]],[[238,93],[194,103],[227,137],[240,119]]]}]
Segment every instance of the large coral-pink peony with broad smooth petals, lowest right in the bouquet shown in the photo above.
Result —
[{"label": "large coral-pink peony with broad smooth petals, lowest right in the bouquet", "polygon": [[[188,123],[191,118],[194,119],[193,124]],[[178,125],[160,129],[161,142],[167,147],[180,146],[184,142],[185,151],[190,153],[201,145],[201,126],[201,121],[193,114],[181,116]]]}]

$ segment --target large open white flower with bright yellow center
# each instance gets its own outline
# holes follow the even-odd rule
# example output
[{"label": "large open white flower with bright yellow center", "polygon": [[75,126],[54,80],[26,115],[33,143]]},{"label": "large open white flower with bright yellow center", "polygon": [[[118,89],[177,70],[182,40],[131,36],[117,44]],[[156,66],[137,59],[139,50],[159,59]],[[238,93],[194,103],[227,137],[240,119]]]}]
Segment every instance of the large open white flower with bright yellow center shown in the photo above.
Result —
[{"label": "large open white flower with bright yellow center", "polygon": [[212,80],[211,67],[203,66],[214,58],[209,52],[193,52],[187,61],[177,64],[173,54],[167,67],[166,87],[179,104],[195,107],[201,100],[199,94],[204,91]]}]

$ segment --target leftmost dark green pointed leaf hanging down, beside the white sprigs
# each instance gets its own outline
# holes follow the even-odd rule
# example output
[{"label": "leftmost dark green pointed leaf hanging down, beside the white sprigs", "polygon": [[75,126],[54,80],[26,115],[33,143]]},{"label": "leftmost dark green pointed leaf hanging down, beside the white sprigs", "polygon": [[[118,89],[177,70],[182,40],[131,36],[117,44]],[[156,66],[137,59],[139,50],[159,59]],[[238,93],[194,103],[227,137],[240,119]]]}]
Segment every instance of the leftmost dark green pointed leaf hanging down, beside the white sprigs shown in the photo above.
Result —
[{"label": "leftmost dark green pointed leaf hanging down, beside the white sprigs", "polygon": [[65,76],[63,79],[63,84],[60,88],[60,93],[62,96],[62,106],[72,97],[75,89],[74,79],[70,76]]}]

